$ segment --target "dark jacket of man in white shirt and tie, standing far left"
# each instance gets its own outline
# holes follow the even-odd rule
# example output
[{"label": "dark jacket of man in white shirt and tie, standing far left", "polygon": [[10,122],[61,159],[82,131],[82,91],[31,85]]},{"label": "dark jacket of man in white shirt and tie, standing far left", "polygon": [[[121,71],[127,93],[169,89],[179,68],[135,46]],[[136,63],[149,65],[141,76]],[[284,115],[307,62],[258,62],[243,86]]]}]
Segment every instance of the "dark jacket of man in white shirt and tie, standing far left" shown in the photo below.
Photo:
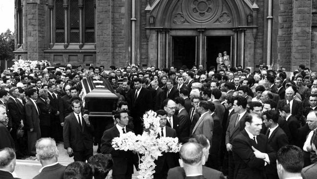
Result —
[{"label": "dark jacket of man in white shirt and tie, standing far left", "polygon": [[[34,129],[34,132],[40,132],[40,108],[29,99],[25,105],[25,127],[26,129]],[[38,111],[37,111],[38,109]]]}]

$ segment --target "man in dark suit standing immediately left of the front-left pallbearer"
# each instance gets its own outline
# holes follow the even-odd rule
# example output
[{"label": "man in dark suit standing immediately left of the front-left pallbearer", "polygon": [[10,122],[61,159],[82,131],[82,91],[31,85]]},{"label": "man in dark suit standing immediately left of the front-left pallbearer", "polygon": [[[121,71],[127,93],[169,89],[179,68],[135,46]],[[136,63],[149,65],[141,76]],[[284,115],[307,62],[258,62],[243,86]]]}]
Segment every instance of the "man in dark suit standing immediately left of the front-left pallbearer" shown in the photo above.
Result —
[{"label": "man in dark suit standing immediately left of the front-left pallbearer", "polygon": [[60,125],[59,120],[59,101],[60,97],[56,93],[56,85],[54,83],[49,83],[48,88],[48,99],[50,100],[50,119],[51,119],[51,134],[50,136],[55,139],[55,141],[62,141],[63,128]]}]

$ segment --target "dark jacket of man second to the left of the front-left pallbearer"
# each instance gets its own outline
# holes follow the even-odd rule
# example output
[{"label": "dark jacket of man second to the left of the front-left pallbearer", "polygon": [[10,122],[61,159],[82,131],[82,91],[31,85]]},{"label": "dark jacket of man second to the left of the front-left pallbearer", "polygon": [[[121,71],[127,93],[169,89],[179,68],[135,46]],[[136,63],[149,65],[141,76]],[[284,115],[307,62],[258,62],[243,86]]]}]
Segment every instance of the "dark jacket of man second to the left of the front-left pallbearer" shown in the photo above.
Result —
[{"label": "dark jacket of man second to the left of the front-left pallbearer", "polygon": [[50,105],[42,98],[39,98],[36,103],[40,108],[40,126],[51,126]]}]

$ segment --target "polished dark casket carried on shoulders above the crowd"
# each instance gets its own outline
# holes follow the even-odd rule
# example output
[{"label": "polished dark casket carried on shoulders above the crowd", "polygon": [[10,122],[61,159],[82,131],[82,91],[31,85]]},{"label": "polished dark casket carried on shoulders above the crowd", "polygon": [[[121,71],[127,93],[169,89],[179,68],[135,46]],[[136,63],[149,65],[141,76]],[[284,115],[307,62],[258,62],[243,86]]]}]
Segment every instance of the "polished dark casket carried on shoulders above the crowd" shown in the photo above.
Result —
[{"label": "polished dark casket carried on shoulders above the crowd", "polygon": [[90,117],[112,117],[117,109],[118,96],[107,79],[100,76],[81,81],[85,93],[84,109]]}]

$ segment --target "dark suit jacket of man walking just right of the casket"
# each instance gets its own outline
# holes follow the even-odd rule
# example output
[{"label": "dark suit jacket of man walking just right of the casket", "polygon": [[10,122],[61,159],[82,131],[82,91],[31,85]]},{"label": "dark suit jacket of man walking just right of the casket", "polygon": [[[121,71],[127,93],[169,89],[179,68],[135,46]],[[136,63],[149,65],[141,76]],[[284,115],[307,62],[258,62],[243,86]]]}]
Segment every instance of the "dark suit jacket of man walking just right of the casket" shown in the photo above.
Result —
[{"label": "dark suit jacket of man walking just right of the casket", "polygon": [[141,88],[138,98],[135,99],[136,89],[132,90],[129,94],[128,104],[131,111],[131,116],[137,120],[143,114],[151,109],[152,94],[148,89]]}]

